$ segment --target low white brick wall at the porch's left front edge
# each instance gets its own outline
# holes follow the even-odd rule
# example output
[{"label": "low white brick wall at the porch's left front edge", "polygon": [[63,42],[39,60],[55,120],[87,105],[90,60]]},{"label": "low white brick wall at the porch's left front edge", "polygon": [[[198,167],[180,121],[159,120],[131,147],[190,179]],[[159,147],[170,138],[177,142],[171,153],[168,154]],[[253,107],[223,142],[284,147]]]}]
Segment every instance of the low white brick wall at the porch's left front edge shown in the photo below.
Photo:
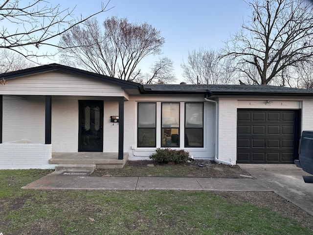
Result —
[{"label": "low white brick wall at the porch's left front edge", "polygon": [[0,169],[54,169],[51,144],[1,143]]}]

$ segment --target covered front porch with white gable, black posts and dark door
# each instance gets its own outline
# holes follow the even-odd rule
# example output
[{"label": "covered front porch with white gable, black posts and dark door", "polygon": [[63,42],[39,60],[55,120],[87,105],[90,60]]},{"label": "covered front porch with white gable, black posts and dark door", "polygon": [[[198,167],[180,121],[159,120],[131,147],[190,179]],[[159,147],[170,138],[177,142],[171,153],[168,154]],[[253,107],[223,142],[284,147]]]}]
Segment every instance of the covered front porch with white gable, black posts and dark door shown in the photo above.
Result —
[{"label": "covered front porch with white gable, black posts and dark door", "polygon": [[[124,102],[129,93],[139,93],[138,84],[57,64],[6,73],[4,79],[7,83],[0,89],[4,167],[124,166],[128,160]],[[118,125],[113,125],[112,116]],[[29,161],[35,144],[45,154],[36,151],[39,156]]]}]

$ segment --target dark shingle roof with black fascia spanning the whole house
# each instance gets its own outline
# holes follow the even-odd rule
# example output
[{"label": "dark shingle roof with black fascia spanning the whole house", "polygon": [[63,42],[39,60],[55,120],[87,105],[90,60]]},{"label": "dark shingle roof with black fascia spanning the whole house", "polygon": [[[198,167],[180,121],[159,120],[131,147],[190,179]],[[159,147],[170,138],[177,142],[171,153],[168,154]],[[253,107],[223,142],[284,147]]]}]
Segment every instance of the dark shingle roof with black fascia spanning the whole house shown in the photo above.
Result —
[{"label": "dark shingle roof with black fascia spanning the whole house", "polygon": [[[63,71],[76,75],[83,75],[102,81],[121,85],[128,89],[130,94],[206,94],[206,95],[313,95],[313,90],[296,89],[290,87],[276,87],[268,85],[188,85],[188,84],[164,84],[164,85],[140,85],[138,83],[124,81],[118,78],[84,71],[64,65],[50,64],[0,74],[0,78],[6,80],[46,71]],[[131,92],[132,91],[132,92]]]}]

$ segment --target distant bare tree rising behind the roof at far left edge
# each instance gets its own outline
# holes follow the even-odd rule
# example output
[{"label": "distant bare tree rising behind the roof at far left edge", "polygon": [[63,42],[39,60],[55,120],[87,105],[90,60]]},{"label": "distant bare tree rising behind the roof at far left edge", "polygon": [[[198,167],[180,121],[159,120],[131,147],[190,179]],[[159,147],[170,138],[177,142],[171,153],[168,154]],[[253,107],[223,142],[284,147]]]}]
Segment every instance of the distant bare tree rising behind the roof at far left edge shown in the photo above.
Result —
[{"label": "distant bare tree rising behind the roof at far left edge", "polygon": [[7,49],[0,52],[0,73],[23,70],[34,66],[34,63],[19,53]]}]

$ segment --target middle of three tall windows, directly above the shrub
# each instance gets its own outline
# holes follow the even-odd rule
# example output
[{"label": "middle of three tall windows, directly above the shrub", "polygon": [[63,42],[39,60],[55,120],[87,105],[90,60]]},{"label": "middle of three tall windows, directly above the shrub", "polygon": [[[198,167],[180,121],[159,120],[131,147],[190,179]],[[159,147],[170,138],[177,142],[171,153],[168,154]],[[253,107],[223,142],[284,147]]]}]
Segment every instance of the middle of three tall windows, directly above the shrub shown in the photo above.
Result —
[{"label": "middle of three tall windows, directly above the shrub", "polygon": [[179,103],[162,103],[161,147],[179,147]]}]

